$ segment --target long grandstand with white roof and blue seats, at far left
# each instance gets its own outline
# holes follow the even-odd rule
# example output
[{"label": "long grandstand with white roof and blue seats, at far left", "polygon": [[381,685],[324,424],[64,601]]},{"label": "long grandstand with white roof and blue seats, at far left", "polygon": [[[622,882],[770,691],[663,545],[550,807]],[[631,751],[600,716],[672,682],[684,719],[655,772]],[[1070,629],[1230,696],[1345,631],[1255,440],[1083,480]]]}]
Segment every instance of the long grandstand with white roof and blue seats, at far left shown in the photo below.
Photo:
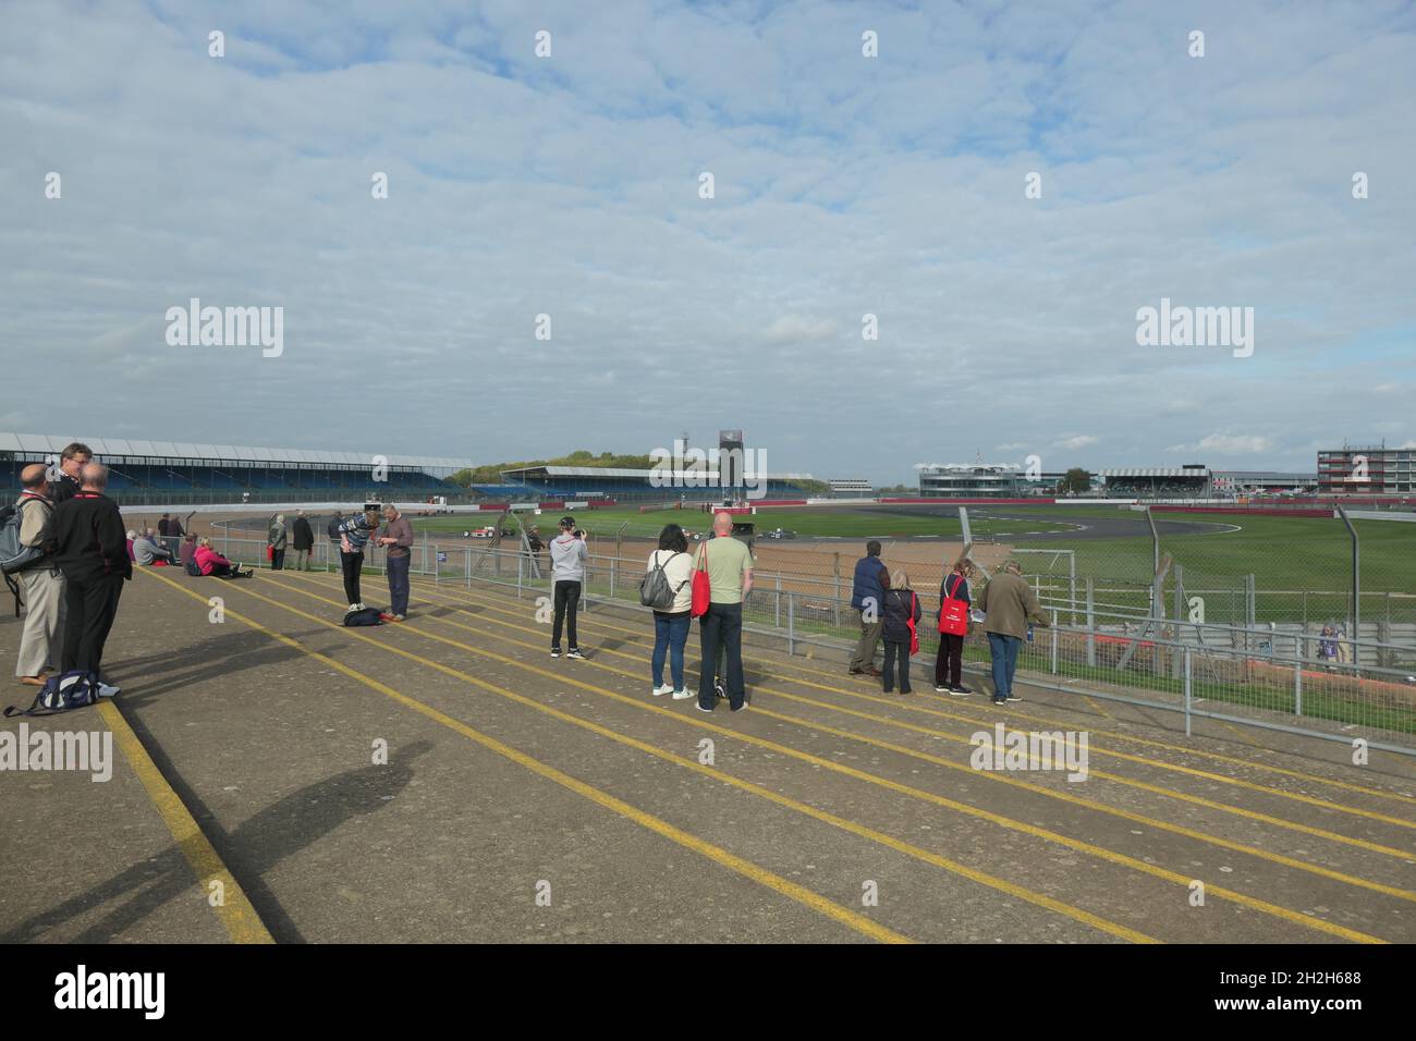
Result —
[{"label": "long grandstand with white roof and blue seats, at far left", "polygon": [[[30,463],[57,463],[71,440],[88,445],[95,459],[109,467],[108,493],[125,506],[466,496],[447,479],[472,466],[463,459],[372,452],[0,433],[0,501],[17,493],[21,469]],[[377,463],[382,466],[375,474]]]}]

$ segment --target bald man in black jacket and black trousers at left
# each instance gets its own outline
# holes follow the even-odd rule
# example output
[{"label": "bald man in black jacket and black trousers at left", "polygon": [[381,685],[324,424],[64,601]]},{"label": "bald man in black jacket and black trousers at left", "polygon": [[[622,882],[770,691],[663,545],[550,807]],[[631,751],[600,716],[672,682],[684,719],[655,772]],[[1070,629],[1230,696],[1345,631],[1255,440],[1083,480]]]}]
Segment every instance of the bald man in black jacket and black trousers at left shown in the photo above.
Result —
[{"label": "bald man in black jacket and black trousers at left", "polygon": [[108,467],[85,463],[79,483],[79,491],[54,510],[54,559],[64,572],[67,613],[61,667],[82,670],[99,683],[99,694],[113,697],[118,687],[102,683],[99,669],[133,562],[123,547],[123,517],[103,494]]}]

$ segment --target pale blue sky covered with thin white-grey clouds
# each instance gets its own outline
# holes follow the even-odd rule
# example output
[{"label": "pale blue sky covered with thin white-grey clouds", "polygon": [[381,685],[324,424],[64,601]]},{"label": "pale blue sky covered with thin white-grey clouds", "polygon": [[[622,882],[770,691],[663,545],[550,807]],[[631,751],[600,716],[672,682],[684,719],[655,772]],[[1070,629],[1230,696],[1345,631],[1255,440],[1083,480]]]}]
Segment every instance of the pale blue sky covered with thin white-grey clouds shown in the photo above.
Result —
[{"label": "pale blue sky covered with thin white-grey clouds", "polygon": [[1311,472],[1416,442],[1413,110],[1388,0],[6,0],[0,431]]}]

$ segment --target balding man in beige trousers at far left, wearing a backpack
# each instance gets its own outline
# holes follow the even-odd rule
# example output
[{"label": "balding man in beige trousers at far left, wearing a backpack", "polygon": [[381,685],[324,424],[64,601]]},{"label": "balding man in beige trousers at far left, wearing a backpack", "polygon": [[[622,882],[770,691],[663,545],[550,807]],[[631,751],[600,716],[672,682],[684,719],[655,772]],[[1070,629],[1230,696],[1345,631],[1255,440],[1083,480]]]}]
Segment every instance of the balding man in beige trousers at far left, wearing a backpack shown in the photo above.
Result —
[{"label": "balding man in beige trousers at far left, wearing a backpack", "polygon": [[24,629],[20,633],[20,653],[14,674],[20,683],[42,687],[54,671],[54,661],[62,660],[55,640],[62,639],[64,574],[54,562],[54,503],[44,463],[30,463],[20,472],[20,545],[44,550],[44,557],[14,572],[24,601]]}]

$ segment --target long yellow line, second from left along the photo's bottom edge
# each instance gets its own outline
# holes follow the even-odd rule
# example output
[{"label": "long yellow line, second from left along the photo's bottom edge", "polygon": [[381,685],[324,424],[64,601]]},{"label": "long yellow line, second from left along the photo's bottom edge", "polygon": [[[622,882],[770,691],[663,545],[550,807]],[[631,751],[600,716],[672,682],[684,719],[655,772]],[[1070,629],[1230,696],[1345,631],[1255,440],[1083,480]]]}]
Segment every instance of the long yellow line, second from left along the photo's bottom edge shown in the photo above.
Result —
[{"label": "long yellow line, second from left along the photo's bottom edge", "polygon": [[[193,592],[191,589],[184,589],[181,585],[178,585],[177,582],[171,581],[170,578],[166,578],[163,575],[156,575],[156,574],[153,574],[150,571],[146,571],[146,569],[140,569],[140,574],[152,575],[157,581],[166,582],[167,585],[173,586],[178,592],[181,592],[181,593],[184,593],[187,596],[191,596],[195,601],[200,601],[202,603],[207,602],[207,598],[201,596],[200,593]],[[238,586],[231,586],[231,588],[235,589]],[[251,591],[242,588],[241,592],[249,593]],[[282,606],[282,605],[279,605],[278,601],[270,601],[269,598],[261,596],[259,593],[251,593],[251,595],[256,596],[256,599],[266,601],[268,603],[275,603],[276,606]],[[225,612],[227,612],[227,618],[234,618],[238,622],[242,622],[244,625],[246,625],[251,629],[256,630],[258,633],[269,636],[272,640],[279,640],[280,643],[286,644],[287,647],[292,647],[292,649],[300,652],[302,654],[306,654],[306,656],[314,659],[320,664],[327,666],[330,669],[334,669],[336,671],[343,673],[344,676],[350,677],[351,680],[357,680],[358,683],[364,684],[365,687],[370,687],[371,690],[375,690],[379,694],[384,694],[385,697],[392,698],[398,704],[401,704],[401,705],[404,705],[406,708],[412,708],[415,712],[419,712],[421,715],[425,715],[429,719],[432,719],[432,721],[435,721],[435,722],[443,725],[443,727],[447,727],[449,729],[453,729],[457,734],[462,734],[464,738],[470,738],[472,741],[476,741],[483,748],[487,748],[487,749],[496,752],[497,755],[501,755],[501,756],[510,759],[511,762],[517,763],[518,766],[524,766],[525,769],[531,770],[532,773],[537,773],[537,775],[545,778],[547,780],[552,780],[556,785],[561,785],[562,787],[569,789],[571,792],[575,792],[576,795],[579,795],[579,796],[582,796],[585,799],[589,799],[590,802],[593,802],[598,806],[603,806],[605,809],[612,810],[613,813],[617,813],[622,817],[626,817],[627,820],[632,820],[636,824],[640,824],[641,827],[646,827],[650,831],[653,831],[653,833],[656,833],[658,836],[663,836],[664,838],[668,838],[668,840],[677,843],[678,846],[683,846],[684,848],[692,850],[694,853],[698,853],[698,854],[707,857],[708,860],[714,861],[715,864],[719,864],[719,865],[722,865],[725,868],[729,868],[731,871],[736,871],[738,874],[741,874],[741,875],[743,875],[746,878],[750,878],[753,882],[758,882],[759,885],[765,885],[766,888],[769,888],[769,889],[772,889],[775,892],[779,892],[783,897],[790,897],[792,899],[797,901],[799,904],[803,904],[803,905],[809,906],[810,909],[817,911],[817,912],[826,915],[827,918],[831,918],[831,919],[840,922],[841,925],[850,926],[851,929],[855,929],[857,932],[862,933],[864,936],[869,936],[871,939],[881,940],[884,943],[910,943],[912,942],[908,936],[905,936],[902,933],[898,933],[893,929],[888,929],[886,926],[879,925],[878,922],[872,922],[871,919],[865,918],[864,915],[857,914],[855,911],[851,911],[850,908],[844,908],[840,904],[835,904],[835,902],[827,899],[826,897],[821,897],[820,894],[813,892],[811,889],[807,889],[803,885],[797,885],[796,882],[793,882],[793,881],[790,881],[787,878],[783,878],[782,875],[777,875],[777,874],[775,874],[772,871],[767,871],[766,868],[759,867],[759,865],[753,864],[752,861],[743,860],[742,857],[738,857],[736,854],[728,853],[726,850],[724,850],[719,846],[714,846],[712,843],[708,843],[708,841],[705,841],[702,838],[698,838],[697,836],[690,834],[688,831],[684,831],[683,829],[674,827],[668,821],[661,820],[660,817],[656,817],[651,813],[646,813],[644,810],[640,810],[639,807],[632,806],[630,803],[626,803],[623,799],[617,799],[617,797],[612,796],[609,792],[602,792],[600,789],[595,787],[593,785],[588,785],[583,780],[579,780],[578,778],[572,778],[569,773],[564,773],[564,772],[558,770],[556,768],[554,768],[554,766],[551,766],[548,763],[541,762],[539,759],[534,759],[532,756],[527,755],[525,752],[523,752],[523,751],[520,751],[517,748],[513,748],[511,745],[507,745],[507,744],[504,744],[501,741],[497,741],[496,738],[493,738],[489,734],[483,734],[481,731],[473,729],[467,724],[462,722],[460,719],[455,719],[453,717],[450,717],[450,715],[447,715],[445,712],[438,711],[432,705],[426,705],[422,701],[418,701],[416,698],[411,698],[406,694],[401,694],[399,691],[394,690],[388,684],[379,683],[374,677],[365,676],[364,673],[358,671],[357,669],[351,669],[350,666],[344,664],[343,661],[336,661],[334,659],[329,657],[327,654],[321,654],[317,650],[312,650],[312,649],[306,647],[299,640],[290,639],[289,636],[285,636],[283,633],[278,633],[278,632],[275,632],[272,629],[268,629],[266,626],[261,625],[255,619],[246,618],[245,615],[241,615],[241,613],[232,610],[231,608],[227,608]],[[296,613],[304,615],[304,612],[296,612]],[[334,625],[331,625],[329,622],[324,622],[323,619],[316,618],[314,615],[304,615],[304,618],[310,619],[312,622],[319,622],[320,625],[330,626],[331,629],[341,629],[341,626],[334,626]],[[361,639],[368,639],[368,637],[362,637],[361,636]],[[370,643],[374,643],[377,646],[378,640],[370,640]],[[459,678],[466,678],[466,680],[469,680],[472,683],[476,683],[479,687],[486,687],[487,690],[496,691],[498,694],[511,695],[514,698],[520,697],[520,695],[511,694],[511,691],[504,691],[504,690],[501,690],[500,687],[497,687],[494,684],[486,683],[484,680],[476,680],[474,677],[463,676],[463,674],[459,674]]]}]

